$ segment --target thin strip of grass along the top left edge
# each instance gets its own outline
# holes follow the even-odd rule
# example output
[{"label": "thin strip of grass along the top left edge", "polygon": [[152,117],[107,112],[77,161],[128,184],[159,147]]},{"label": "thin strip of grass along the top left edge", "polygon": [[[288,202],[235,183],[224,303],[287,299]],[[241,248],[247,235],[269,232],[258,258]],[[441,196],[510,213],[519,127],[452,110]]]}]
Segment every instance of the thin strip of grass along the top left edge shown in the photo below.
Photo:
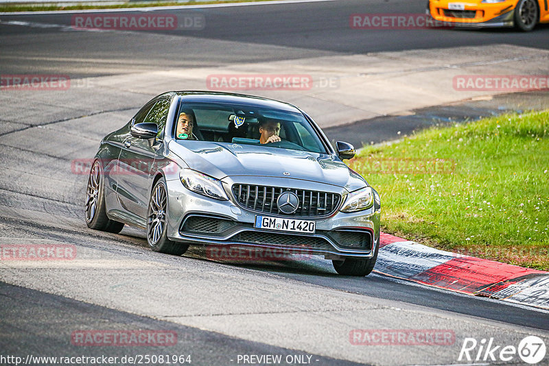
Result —
[{"label": "thin strip of grass along the top left edge", "polygon": [[[176,1],[158,1],[144,3],[121,3],[113,5],[78,5],[60,6],[60,5],[25,5],[25,4],[5,4],[0,5],[0,12],[45,12],[51,10],[86,10],[86,9],[124,9],[124,8],[149,8],[152,6],[181,6],[181,5],[204,5],[220,3],[248,3],[255,1],[268,0],[220,0],[220,1],[189,1],[187,3],[178,3]],[[75,1],[78,3],[78,1]]]}]

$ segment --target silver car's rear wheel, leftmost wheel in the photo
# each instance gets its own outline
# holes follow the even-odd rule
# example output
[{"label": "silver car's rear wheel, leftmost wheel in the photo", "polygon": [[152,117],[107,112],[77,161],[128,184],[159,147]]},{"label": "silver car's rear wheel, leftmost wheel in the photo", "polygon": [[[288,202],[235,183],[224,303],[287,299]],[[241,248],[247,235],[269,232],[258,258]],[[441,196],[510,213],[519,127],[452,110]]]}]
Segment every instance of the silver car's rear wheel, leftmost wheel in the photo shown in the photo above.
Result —
[{"label": "silver car's rear wheel, leftmost wheel in the photo", "polygon": [[99,160],[91,165],[88,186],[86,188],[86,224],[88,228],[118,234],[124,223],[107,217],[104,195],[103,168]]}]

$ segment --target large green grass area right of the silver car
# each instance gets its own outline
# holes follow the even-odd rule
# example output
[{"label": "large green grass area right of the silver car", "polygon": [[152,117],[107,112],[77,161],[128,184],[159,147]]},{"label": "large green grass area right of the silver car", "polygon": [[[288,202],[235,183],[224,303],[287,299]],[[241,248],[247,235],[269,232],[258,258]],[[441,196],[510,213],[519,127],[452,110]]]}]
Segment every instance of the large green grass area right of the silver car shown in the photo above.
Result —
[{"label": "large green grass area right of the silver car", "polygon": [[549,111],[502,115],[366,147],[351,167],[379,192],[385,232],[549,270],[548,130]]}]

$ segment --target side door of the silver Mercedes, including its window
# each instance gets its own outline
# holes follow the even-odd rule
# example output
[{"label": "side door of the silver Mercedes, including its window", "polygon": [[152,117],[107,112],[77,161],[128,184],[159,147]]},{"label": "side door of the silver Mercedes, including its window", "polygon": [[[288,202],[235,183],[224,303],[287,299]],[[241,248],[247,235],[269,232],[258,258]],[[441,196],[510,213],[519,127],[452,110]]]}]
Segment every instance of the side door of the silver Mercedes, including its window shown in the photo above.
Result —
[{"label": "side door of the silver Mercedes, including its window", "polygon": [[[159,125],[159,133],[165,125],[170,101],[160,99],[154,103],[146,116],[135,123],[152,122]],[[143,117],[143,116],[139,116]],[[121,206],[141,219],[147,215],[150,195],[150,171],[158,145],[150,146],[149,141],[133,137],[129,132],[124,140],[119,157],[117,195]]]}]

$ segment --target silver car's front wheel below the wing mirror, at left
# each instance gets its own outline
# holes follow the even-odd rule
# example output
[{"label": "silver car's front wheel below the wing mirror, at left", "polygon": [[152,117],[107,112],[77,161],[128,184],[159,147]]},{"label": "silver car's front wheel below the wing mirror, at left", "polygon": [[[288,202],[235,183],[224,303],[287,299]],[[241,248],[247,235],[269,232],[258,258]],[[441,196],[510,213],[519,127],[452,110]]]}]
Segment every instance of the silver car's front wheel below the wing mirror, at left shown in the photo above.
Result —
[{"label": "silver car's front wheel below the wing mirror, at left", "polygon": [[161,178],[154,187],[147,209],[147,243],[154,252],[180,256],[189,248],[188,244],[177,243],[167,238],[167,191],[166,182]]}]

